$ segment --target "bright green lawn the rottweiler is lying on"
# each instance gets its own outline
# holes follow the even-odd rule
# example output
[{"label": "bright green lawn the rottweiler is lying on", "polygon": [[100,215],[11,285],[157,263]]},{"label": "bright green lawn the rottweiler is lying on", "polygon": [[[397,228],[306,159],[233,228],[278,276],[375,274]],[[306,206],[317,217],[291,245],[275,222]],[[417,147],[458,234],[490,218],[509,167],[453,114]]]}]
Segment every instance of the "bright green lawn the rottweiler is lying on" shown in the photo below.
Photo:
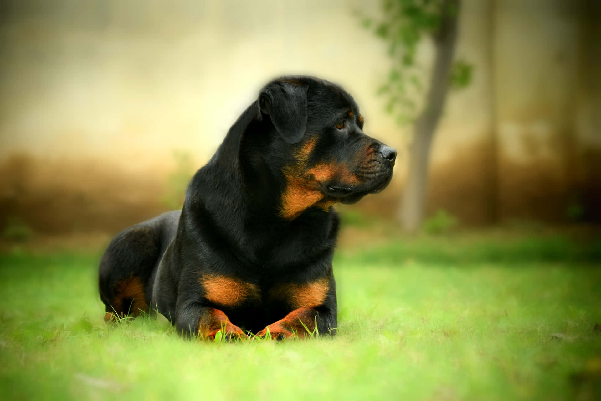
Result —
[{"label": "bright green lawn the rottweiler is lying on", "polygon": [[[2,399],[596,399],[599,243],[341,249],[339,335],[206,343],[102,321],[98,254],[0,256]],[[234,322],[235,323],[235,322]]]}]

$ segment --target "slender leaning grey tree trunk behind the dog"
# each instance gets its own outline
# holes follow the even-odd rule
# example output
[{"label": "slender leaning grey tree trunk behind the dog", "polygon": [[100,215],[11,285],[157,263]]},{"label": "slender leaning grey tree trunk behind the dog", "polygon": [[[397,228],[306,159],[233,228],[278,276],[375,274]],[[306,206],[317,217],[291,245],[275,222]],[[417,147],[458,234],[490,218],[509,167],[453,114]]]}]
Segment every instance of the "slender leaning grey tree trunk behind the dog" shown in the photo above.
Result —
[{"label": "slender leaning grey tree trunk behind the dog", "polygon": [[409,147],[409,171],[401,200],[399,218],[404,230],[415,232],[421,225],[428,180],[430,146],[447,96],[457,38],[460,0],[445,0],[441,25],[434,36],[436,57],[424,111],[415,120]]}]

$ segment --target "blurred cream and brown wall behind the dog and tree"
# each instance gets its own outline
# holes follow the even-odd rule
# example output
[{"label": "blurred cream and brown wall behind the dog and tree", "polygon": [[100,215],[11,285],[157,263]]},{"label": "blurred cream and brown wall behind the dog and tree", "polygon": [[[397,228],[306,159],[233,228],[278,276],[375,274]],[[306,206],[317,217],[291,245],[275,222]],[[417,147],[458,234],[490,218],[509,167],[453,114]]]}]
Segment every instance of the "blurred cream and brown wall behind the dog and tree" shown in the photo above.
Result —
[{"label": "blurred cream and brown wall behind the dog and tree", "polygon": [[[284,74],[343,85],[365,132],[400,150],[391,186],[343,209],[398,221],[439,47],[418,26],[399,63],[390,12],[370,0],[3,1],[2,239],[115,233],[178,207]],[[600,19],[593,0],[462,1],[460,85],[433,136],[422,227],[599,224]],[[399,65],[413,71],[405,111],[386,89]]]}]

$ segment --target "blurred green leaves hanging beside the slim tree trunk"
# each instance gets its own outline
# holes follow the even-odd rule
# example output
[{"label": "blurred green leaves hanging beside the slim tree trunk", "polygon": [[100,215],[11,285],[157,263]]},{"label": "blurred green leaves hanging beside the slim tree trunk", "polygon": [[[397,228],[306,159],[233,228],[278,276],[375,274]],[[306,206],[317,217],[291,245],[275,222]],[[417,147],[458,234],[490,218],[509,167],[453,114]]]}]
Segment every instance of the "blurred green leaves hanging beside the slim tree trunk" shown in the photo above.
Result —
[{"label": "blurred green leaves hanging beside the slim tree trunk", "polygon": [[[433,36],[442,19],[442,0],[382,0],[383,17],[367,17],[362,11],[355,14],[362,26],[388,43],[392,68],[377,94],[386,98],[385,111],[395,117],[399,125],[411,123],[417,114],[416,97],[421,96],[423,66],[416,62],[417,46],[424,36]],[[451,88],[469,85],[473,66],[457,60],[450,76]]]}]

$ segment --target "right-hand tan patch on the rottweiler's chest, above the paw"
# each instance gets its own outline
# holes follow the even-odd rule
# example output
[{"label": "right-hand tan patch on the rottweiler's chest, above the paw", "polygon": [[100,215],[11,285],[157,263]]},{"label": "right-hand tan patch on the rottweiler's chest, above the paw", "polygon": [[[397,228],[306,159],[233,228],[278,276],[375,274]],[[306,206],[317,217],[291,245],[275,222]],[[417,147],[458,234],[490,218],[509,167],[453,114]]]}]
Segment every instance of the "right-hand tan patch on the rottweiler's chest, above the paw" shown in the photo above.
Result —
[{"label": "right-hand tan patch on the rottweiler's chest, above the paw", "polygon": [[278,284],[269,290],[269,296],[286,302],[291,308],[314,308],[323,304],[330,283],[327,277],[305,284]]}]

